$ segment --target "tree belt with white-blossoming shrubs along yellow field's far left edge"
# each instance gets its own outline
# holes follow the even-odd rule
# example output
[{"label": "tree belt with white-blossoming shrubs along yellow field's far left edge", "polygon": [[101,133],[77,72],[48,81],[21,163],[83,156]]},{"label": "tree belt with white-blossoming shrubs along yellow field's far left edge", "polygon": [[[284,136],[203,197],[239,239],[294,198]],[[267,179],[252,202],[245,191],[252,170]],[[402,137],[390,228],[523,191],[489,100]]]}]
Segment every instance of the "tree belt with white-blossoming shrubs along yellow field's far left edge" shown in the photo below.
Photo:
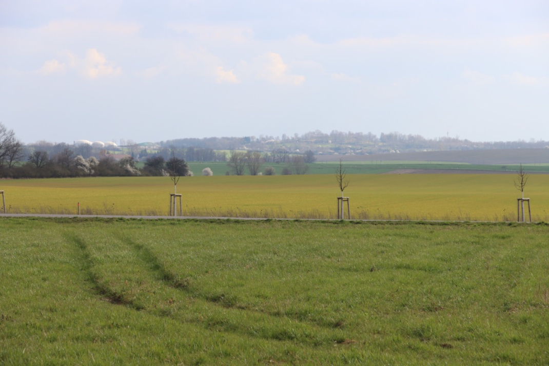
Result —
[{"label": "tree belt with white-blossoming shrubs along yellow field's far left edge", "polygon": [[261,171],[264,163],[284,164],[282,174],[305,174],[309,169],[307,163],[316,160],[311,150],[295,155],[283,147],[264,153],[233,150],[228,158],[226,152],[215,152],[210,148],[170,147],[161,148],[154,154],[142,152],[144,164],[139,168],[134,154],[131,151],[131,155],[121,154],[119,159],[115,159],[113,154],[104,149],[95,156],[94,149],[89,145],[70,146],[66,143],[52,144],[42,141],[25,146],[16,138],[13,130],[8,130],[0,123],[2,178],[192,175],[185,158],[193,161],[227,161],[227,174],[244,175],[246,168],[250,175],[275,174],[273,167],[266,167]]}]

